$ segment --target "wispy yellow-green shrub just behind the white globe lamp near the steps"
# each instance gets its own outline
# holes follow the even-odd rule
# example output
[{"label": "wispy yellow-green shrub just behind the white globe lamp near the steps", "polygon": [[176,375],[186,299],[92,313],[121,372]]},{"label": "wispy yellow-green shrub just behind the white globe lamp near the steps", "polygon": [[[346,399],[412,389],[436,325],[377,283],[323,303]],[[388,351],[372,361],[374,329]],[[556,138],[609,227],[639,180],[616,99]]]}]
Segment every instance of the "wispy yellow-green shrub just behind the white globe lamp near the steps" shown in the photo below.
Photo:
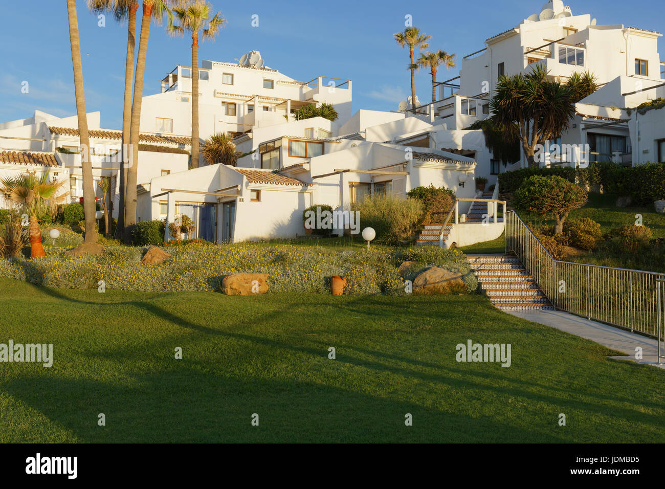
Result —
[{"label": "wispy yellow-green shrub just behind the white globe lamp near the steps", "polygon": [[360,211],[361,228],[374,228],[377,243],[394,245],[416,232],[423,205],[412,198],[378,195],[366,196],[354,210]]}]

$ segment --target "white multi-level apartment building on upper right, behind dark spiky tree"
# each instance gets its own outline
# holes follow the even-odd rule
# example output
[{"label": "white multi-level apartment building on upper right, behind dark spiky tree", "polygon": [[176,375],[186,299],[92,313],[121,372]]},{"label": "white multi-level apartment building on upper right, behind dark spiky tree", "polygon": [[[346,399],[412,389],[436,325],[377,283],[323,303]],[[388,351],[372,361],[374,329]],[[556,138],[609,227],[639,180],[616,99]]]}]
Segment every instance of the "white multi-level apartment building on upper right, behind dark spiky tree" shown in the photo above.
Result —
[{"label": "white multi-level apartment building on upper right, behind dark spiky tree", "polygon": [[[640,136],[630,130],[626,111],[613,108],[636,107],[663,96],[665,63],[658,54],[654,31],[617,25],[598,25],[591,14],[573,15],[561,0],[551,0],[538,13],[518,25],[485,39],[485,47],[462,59],[460,76],[439,85],[440,100],[418,109],[417,117],[433,124],[446,124],[448,136],[440,140],[462,140],[464,128],[489,116],[489,100],[502,75],[529,73],[537,63],[549,76],[565,82],[573,72],[591,71],[601,88],[578,104],[577,116],[566,134],[552,144],[589,144],[589,160],[614,160],[620,164],[639,164],[633,148]],[[630,94],[632,96],[626,96]],[[633,116],[634,117],[634,116]],[[460,134],[455,134],[459,132]],[[650,146],[665,134],[649,134]],[[446,150],[469,153],[472,147],[440,146]],[[656,161],[650,152],[648,161]],[[491,180],[505,168],[488,152],[476,156],[478,174]],[[556,160],[556,158],[555,158]],[[547,164],[549,164],[549,158]],[[558,161],[561,162],[561,161]],[[567,163],[563,161],[563,163]],[[568,162],[569,163],[569,162]],[[522,158],[519,166],[525,165]]]}]

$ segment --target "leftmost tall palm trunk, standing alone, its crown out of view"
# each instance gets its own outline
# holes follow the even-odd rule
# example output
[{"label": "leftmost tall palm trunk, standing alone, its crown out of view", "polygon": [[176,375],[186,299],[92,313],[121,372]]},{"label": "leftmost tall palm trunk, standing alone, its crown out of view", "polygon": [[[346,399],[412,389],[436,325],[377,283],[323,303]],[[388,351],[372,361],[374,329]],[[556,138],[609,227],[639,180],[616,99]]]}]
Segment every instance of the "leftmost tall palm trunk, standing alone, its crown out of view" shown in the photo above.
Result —
[{"label": "leftmost tall palm trunk, standing alone, its crown out of view", "polygon": [[[88,136],[88,119],[85,112],[85,92],[83,89],[83,67],[81,65],[80,42],[78,39],[78,20],[76,19],[76,0],[67,0],[69,16],[69,43],[72,49],[72,67],[74,68],[74,93],[76,95],[76,115],[78,116],[78,134],[81,145],[81,170],[83,173],[83,210],[85,213],[85,242],[97,242],[94,230],[96,206],[94,200],[94,184],[92,182],[92,150]],[[39,226],[38,226],[39,230]],[[41,240],[41,238],[40,238]]]}]

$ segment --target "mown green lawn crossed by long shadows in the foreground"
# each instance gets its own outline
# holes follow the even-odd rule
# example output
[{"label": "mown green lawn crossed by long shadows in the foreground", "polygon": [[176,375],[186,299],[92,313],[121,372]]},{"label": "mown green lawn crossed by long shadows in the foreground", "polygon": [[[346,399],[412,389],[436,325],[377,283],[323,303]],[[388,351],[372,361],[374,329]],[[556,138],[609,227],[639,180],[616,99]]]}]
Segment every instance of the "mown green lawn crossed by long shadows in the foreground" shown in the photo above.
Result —
[{"label": "mown green lawn crossed by long shadows in the foreground", "polygon": [[[608,359],[604,347],[501,313],[477,295],[98,293],[0,279],[0,301],[0,343],[53,343],[55,356],[51,369],[0,363],[0,442],[665,435],[664,371]],[[458,363],[456,345],[467,339],[511,343],[511,367]]]}]

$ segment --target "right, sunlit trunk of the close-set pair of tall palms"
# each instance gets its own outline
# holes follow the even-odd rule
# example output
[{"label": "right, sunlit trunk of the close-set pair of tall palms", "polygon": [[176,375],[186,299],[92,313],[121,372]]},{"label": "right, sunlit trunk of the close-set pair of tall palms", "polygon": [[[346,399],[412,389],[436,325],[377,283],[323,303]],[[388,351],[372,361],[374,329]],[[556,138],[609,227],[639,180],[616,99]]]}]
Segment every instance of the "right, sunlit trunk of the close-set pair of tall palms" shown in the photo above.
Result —
[{"label": "right, sunlit trunk of the close-set pair of tall palms", "polygon": [[132,124],[130,126],[130,144],[132,145],[132,166],[127,170],[127,188],[125,199],[125,232],[124,243],[131,244],[132,230],[136,225],[136,179],[138,171],[138,139],[141,122],[141,104],[143,102],[143,79],[146,73],[146,52],[150,36],[152,20],[152,1],[144,0],[143,17],[141,19],[141,35],[138,41],[138,58],[136,59],[136,77],[134,78],[134,101],[132,102]]}]

